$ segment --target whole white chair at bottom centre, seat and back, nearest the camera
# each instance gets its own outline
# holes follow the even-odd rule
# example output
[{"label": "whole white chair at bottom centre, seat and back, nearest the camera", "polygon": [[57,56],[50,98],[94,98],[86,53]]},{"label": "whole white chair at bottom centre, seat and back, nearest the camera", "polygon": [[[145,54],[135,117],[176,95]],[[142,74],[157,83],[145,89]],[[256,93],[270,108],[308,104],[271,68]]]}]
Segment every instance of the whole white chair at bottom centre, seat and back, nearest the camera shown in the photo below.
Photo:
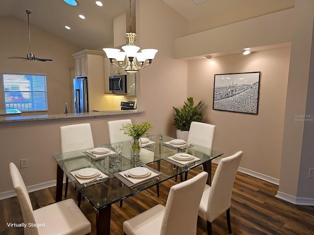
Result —
[{"label": "whole white chair at bottom centre, seat and back, nearest the camera", "polygon": [[197,213],[208,173],[170,188],[166,206],[156,205],[123,222],[125,235],[196,235]]}]

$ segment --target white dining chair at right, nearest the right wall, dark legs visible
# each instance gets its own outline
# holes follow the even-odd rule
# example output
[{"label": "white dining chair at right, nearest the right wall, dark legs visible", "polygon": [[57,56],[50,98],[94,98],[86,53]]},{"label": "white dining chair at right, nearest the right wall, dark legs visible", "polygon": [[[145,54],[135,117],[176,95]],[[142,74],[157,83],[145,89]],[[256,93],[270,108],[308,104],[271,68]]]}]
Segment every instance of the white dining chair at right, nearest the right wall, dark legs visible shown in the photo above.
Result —
[{"label": "white dining chair at right, nearest the right wall, dark legs visible", "polygon": [[211,222],[226,211],[228,231],[231,234],[230,207],[235,175],[243,152],[220,160],[211,186],[206,185],[200,203],[198,216],[207,221],[207,234],[212,234]]}]

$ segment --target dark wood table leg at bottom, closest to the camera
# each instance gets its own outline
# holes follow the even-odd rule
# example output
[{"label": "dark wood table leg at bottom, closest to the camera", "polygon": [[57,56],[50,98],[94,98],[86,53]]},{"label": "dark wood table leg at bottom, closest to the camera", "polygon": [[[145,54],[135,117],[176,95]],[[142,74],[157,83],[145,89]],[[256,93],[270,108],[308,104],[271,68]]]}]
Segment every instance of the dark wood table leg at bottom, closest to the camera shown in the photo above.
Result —
[{"label": "dark wood table leg at bottom, closest to the camera", "polygon": [[111,204],[96,211],[96,234],[110,235]]}]

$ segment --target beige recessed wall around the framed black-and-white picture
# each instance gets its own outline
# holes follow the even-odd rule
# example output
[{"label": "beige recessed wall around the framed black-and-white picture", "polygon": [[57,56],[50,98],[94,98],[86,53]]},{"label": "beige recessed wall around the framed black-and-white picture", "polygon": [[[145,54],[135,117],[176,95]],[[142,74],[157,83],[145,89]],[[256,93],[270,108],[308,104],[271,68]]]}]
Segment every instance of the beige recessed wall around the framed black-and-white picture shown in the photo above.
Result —
[{"label": "beige recessed wall around the framed black-and-white picture", "polygon": [[[244,152],[241,167],[280,177],[290,47],[188,62],[187,96],[206,103],[206,122],[216,125],[213,149]],[[212,109],[214,74],[261,71],[258,115]],[[271,163],[271,164],[270,164]]]}]

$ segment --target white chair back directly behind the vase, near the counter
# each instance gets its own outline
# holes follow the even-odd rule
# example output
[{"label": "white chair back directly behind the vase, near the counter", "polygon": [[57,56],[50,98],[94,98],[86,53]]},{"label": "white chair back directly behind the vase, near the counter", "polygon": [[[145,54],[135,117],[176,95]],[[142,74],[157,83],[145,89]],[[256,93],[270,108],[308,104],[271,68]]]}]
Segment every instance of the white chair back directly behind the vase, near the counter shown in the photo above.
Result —
[{"label": "white chair back directly behind the vase, near the counter", "polygon": [[132,124],[131,119],[108,121],[110,143],[116,143],[132,139],[130,136],[125,135],[123,130],[120,130],[123,125],[126,125],[128,123]]}]

